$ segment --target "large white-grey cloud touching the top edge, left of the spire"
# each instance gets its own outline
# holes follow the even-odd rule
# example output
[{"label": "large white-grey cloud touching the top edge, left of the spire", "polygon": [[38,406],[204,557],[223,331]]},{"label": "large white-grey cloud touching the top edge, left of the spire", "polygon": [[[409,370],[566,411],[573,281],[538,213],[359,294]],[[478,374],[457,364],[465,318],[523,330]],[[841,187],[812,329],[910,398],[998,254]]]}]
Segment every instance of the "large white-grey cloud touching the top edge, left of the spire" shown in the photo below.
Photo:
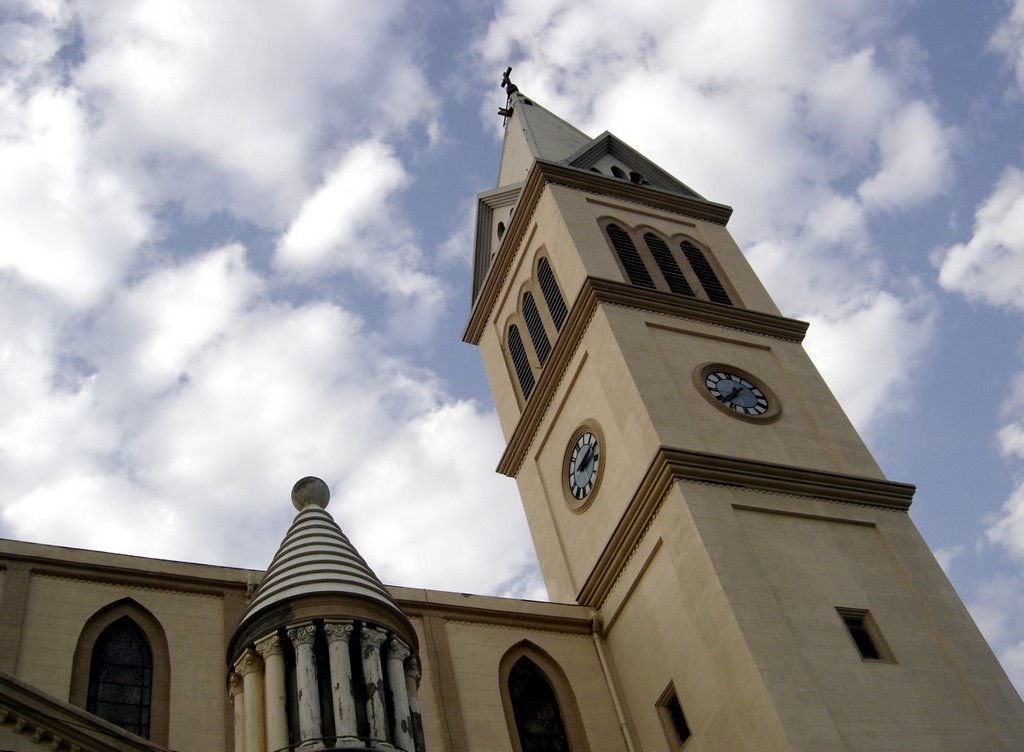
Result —
[{"label": "large white-grey cloud touching the top edge, left of the spire", "polygon": [[229,208],[272,226],[302,201],[325,145],[432,117],[404,11],[395,0],[85,4],[90,54],[75,82],[140,185],[201,216]]}]

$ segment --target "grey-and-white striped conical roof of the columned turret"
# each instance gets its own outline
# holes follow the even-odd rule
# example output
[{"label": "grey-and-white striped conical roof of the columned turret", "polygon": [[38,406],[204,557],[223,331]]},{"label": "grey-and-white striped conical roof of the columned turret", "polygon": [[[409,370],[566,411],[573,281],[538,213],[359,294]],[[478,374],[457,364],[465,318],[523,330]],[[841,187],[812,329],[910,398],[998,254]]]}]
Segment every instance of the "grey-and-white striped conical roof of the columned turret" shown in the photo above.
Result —
[{"label": "grey-and-white striped conical roof of the columned turret", "polygon": [[323,505],[309,502],[295,515],[243,624],[294,598],[327,593],[367,598],[401,616],[391,594],[323,508],[326,505],[326,499]]}]

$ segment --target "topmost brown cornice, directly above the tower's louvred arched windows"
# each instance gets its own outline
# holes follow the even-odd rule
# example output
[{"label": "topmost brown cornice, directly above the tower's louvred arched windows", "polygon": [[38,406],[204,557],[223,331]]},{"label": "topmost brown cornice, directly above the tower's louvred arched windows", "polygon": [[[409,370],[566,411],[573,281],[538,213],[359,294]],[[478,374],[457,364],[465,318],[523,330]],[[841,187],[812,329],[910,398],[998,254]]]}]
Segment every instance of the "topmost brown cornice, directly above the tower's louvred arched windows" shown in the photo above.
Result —
[{"label": "topmost brown cornice, directly above the tower's louvred arched windows", "polygon": [[723,204],[716,204],[703,199],[683,196],[677,193],[662,191],[647,185],[637,185],[613,177],[607,177],[575,167],[566,167],[553,162],[538,160],[530,168],[526,183],[519,197],[515,214],[505,233],[498,253],[487,270],[486,280],[479,295],[473,303],[469,322],[463,332],[464,342],[478,344],[483,334],[483,327],[490,317],[498,301],[499,293],[505,285],[505,278],[512,267],[512,261],[519,249],[534,210],[544,189],[548,183],[556,183],[579,191],[609,196],[624,201],[641,203],[645,206],[664,209],[676,214],[706,219],[718,224],[725,224],[732,209]]}]

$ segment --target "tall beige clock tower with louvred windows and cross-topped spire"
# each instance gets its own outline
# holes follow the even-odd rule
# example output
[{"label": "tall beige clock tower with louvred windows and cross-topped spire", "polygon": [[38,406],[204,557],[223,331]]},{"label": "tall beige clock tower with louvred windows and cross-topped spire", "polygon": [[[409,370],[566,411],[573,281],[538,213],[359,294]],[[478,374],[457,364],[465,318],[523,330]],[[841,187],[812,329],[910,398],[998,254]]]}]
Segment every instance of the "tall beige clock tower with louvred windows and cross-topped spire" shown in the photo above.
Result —
[{"label": "tall beige clock tower with louvred windows and cross-topped spire", "polygon": [[705,199],[508,81],[472,311],[555,600],[633,750],[1024,749],[1024,707]]}]

